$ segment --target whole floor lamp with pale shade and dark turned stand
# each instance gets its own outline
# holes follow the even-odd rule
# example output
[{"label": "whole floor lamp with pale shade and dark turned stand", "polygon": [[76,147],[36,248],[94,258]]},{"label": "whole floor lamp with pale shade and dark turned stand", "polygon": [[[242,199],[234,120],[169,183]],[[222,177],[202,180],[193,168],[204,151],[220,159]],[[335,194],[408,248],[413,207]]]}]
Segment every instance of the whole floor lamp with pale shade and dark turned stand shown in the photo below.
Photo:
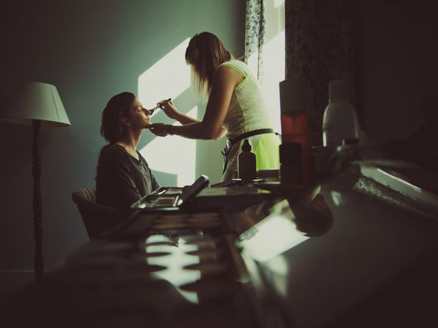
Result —
[{"label": "whole floor lamp with pale shade and dark turned stand", "polygon": [[34,176],[34,239],[35,277],[39,280],[44,273],[42,259],[42,197],[41,197],[41,126],[70,126],[70,120],[62,105],[56,87],[47,83],[24,83],[12,98],[10,105],[0,109],[0,120],[34,127],[32,143],[32,175]]}]

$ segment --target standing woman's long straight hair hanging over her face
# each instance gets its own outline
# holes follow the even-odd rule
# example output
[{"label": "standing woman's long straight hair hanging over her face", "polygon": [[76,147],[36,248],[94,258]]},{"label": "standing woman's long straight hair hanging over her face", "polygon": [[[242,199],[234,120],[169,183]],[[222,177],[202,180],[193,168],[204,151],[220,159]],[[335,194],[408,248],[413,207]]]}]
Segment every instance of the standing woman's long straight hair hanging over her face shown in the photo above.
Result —
[{"label": "standing woman's long straight hair hanging over her face", "polygon": [[220,64],[231,59],[233,55],[213,33],[202,32],[190,39],[185,49],[185,62],[192,66],[198,95],[210,94],[214,71]]}]

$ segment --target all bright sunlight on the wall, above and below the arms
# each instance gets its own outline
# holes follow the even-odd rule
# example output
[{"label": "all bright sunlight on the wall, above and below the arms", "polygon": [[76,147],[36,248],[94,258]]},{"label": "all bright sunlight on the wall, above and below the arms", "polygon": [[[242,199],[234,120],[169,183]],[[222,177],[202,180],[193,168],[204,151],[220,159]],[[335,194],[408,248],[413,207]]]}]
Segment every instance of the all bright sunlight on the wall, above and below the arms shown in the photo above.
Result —
[{"label": "all bright sunlight on the wall, above and below the arms", "polygon": [[[190,38],[185,39],[138,77],[138,98],[144,107],[155,107],[162,99],[175,99],[190,88],[190,67],[184,56],[189,41]],[[188,115],[196,118],[197,111],[194,107]],[[140,153],[148,159],[151,169],[176,174],[177,186],[194,182],[196,141],[177,136],[156,137]]]}]

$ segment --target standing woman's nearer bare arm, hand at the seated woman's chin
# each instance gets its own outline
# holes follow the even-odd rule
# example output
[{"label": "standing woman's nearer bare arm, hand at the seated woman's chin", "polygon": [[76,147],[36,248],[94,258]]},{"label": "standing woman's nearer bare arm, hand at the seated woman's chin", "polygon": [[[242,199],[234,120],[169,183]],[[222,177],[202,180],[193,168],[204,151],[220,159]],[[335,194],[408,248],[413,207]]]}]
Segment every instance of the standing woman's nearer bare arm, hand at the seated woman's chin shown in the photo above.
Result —
[{"label": "standing woman's nearer bare arm, hand at the seated woman's chin", "polygon": [[[203,120],[183,126],[172,126],[172,134],[190,139],[220,139],[225,133],[222,124],[229,109],[233,90],[243,79],[233,68],[220,66],[214,73]],[[181,119],[182,116],[175,114],[175,119],[177,118]],[[152,124],[150,129],[156,135],[166,135],[166,124]]]}]

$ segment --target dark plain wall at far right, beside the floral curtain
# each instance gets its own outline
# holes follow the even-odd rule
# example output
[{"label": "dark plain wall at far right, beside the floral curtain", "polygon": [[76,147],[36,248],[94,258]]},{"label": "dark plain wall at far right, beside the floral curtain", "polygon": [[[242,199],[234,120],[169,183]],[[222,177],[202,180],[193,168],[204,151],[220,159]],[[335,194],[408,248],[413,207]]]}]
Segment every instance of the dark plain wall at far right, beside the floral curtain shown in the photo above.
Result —
[{"label": "dark plain wall at far right, beside the floral curtain", "polygon": [[[438,5],[432,0],[357,1],[357,95],[372,141],[405,139],[438,96]],[[438,108],[437,108],[438,110]]]}]

